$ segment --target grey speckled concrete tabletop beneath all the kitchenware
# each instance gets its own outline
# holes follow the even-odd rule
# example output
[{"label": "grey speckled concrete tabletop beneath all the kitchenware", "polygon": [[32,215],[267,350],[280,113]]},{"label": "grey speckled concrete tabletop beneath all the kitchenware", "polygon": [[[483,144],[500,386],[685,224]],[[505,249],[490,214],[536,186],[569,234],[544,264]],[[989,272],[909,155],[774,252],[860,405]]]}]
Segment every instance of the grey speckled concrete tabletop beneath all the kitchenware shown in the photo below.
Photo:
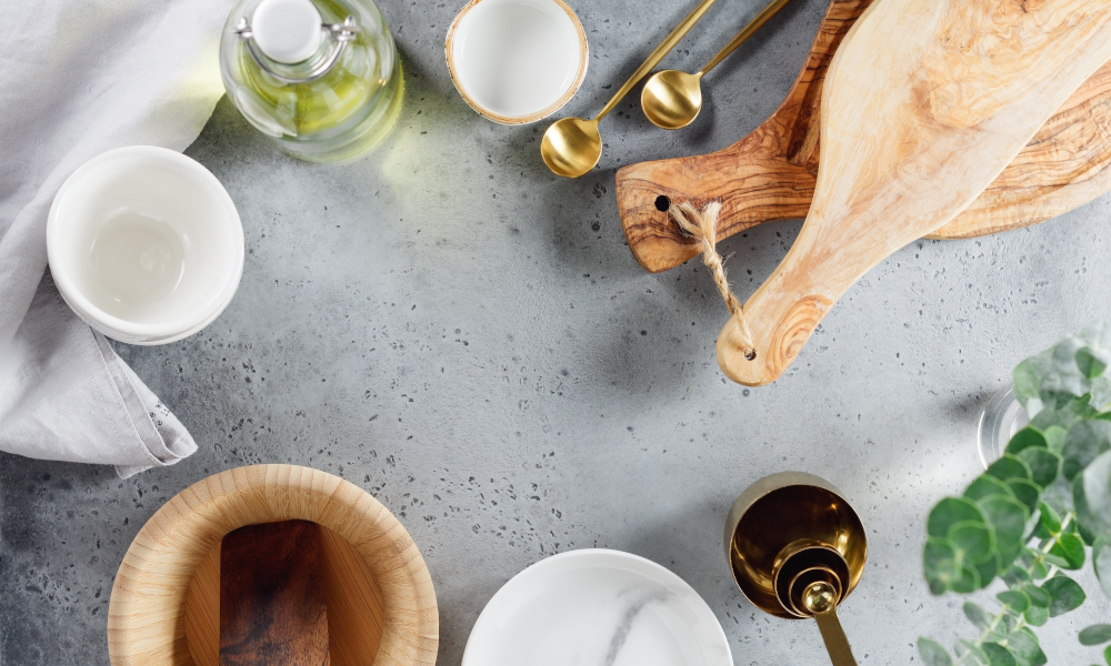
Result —
[{"label": "grey speckled concrete tabletop beneath all the kitchenware", "polygon": [[[569,114],[600,108],[692,4],[572,3],[591,62]],[[664,133],[622,104],[600,168],[575,181],[540,162],[542,125],[493,125],[456,94],[442,43],[462,0],[381,4],[408,92],[377,152],[298,162],[227,100],[189,150],[242,214],[242,286],[189,340],[117,349],[200,452],[129,481],[0,455],[0,664],[107,664],[112,578],[143,522],[187,485],[262,462],[343,476],[401,518],[436,582],[444,665],[513,574],[592,546],[690,582],[737,664],[822,663],[817,628],[755,610],[721,554],[733,497],[782,470],[825,476],[868,526],[868,568],[842,607],[862,664],[919,663],[919,635],[970,637],[962,599],[931,597],[922,581],[924,518],[979,473],[977,420],[1014,364],[1111,317],[1111,198],[1032,229],[903,249],[833,309],[785,376],[745,390],[718,371],[725,310],[705,271],[649,275],[623,245],[613,172],[759,124],[824,0],[795,0],[711,74],[695,127]],[[723,0],[665,64],[697,69],[755,4]],[[742,296],[798,229],[723,244]],[[1082,581],[1088,604],[1039,632],[1051,664],[1099,660],[1075,634],[1111,606]]]}]

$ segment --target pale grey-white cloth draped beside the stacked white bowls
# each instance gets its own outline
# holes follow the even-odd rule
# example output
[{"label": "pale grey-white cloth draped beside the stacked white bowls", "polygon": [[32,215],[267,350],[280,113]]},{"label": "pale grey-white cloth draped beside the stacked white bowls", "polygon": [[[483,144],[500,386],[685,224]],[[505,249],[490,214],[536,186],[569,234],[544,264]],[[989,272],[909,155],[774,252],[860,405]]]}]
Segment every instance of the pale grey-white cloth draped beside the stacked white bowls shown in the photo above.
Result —
[{"label": "pale grey-white cloth draped beside the stacked white bowls", "polygon": [[7,0],[0,22],[0,450],[170,465],[197,444],[62,302],[47,212],[83,162],[121,145],[184,150],[223,93],[230,0]]}]

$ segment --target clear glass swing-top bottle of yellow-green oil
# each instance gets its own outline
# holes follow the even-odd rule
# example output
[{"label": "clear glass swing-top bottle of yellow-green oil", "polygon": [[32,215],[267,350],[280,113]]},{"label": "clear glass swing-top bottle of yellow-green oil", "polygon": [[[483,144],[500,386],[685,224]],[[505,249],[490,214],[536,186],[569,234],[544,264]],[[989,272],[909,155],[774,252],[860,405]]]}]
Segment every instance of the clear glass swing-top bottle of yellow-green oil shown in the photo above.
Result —
[{"label": "clear glass swing-top bottle of yellow-green oil", "polygon": [[401,61],[370,0],[241,0],[220,70],[243,117],[306,160],[369,150],[401,111]]}]

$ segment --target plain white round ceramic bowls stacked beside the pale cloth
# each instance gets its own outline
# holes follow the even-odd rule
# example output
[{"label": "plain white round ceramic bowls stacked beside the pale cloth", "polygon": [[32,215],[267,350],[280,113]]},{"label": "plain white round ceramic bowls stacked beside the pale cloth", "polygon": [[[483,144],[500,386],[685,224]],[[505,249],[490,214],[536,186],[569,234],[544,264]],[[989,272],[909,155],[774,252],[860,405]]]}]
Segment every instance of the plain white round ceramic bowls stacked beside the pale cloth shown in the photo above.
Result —
[{"label": "plain white round ceramic bowls stacked beside the pale cloth", "polygon": [[192,335],[223,312],[243,273],[231,196],[194,160],[118,148],[62,184],[47,221],[58,291],[89,325],[131,344]]}]

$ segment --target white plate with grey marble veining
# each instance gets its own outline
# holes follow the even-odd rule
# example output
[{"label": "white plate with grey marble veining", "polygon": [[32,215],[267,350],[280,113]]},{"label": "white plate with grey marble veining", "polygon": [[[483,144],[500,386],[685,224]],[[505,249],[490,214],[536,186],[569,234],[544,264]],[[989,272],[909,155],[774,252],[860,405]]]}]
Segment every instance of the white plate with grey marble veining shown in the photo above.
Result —
[{"label": "white plate with grey marble veining", "polygon": [[571,551],[490,599],[462,666],[732,666],[713,612],[682,578],[619,551]]}]

